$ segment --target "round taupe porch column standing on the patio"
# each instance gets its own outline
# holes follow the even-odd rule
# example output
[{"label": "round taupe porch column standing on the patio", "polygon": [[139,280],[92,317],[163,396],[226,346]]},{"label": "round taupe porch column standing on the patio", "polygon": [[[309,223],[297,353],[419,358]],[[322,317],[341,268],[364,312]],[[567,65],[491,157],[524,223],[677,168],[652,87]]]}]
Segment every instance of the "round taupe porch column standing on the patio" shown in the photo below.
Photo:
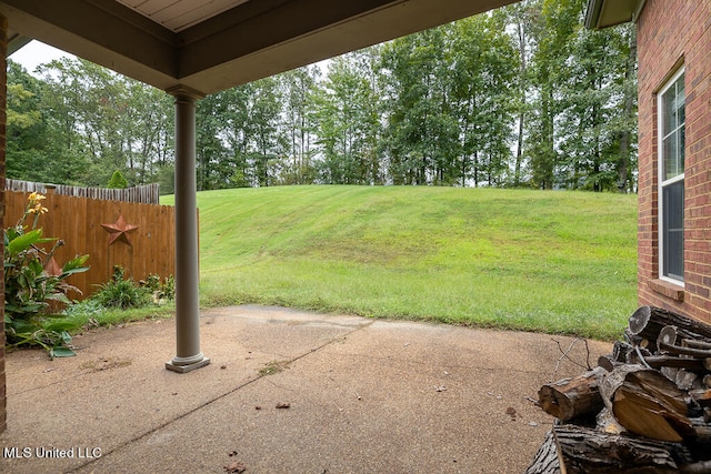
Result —
[{"label": "round taupe porch column standing on the patio", "polygon": [[167,90],[176,98],[176,340],[177,354],[166,369],[186,373],[210,360],[200,352],[198,292],[198,206],[196,203],[196,101],[202,94],[184,87]]}]

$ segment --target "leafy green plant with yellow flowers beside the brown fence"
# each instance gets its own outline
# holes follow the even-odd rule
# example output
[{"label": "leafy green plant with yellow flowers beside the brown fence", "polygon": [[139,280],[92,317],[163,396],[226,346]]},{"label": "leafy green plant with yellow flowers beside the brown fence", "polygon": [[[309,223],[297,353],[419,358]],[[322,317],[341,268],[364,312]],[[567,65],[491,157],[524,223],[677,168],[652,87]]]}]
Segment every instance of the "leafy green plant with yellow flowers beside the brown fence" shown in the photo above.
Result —
[{"label": "leafy green plant with yellow flowers beside the brown fence", "polygon": [[[38,229],[39,216],[47,212],[41,194],[31,193],[26,212],[12,228],[4,230],[4,331],[9,346],[40,345],[53,357],[73,355],[69,343],[71,322],[50,314],[50,303],[69,304],[70,291],[78,291],[66,280],[89,270],[84,263],[89,255],[77,256],[56,272],[46,266],[53,262],[56,250],[62,245],[58,239],[42,238]],[[26,221],[32,218],[31,230]],[[49,252],[43,244],[52,243]]]}]

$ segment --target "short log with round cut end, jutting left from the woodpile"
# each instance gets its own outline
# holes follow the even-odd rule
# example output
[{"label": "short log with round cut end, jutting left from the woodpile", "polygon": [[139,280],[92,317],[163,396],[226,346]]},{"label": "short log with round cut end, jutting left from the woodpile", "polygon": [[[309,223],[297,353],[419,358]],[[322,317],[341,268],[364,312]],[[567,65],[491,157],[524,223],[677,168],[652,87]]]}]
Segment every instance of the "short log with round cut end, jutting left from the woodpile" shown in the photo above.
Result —
[{"label": "short log with round cut end, jutting left from the woodpile", "polygon": [[545,413],[563,422],[598,413],[604,406],[599,387],[607,373],[598,366],[577,377],[545,384],[538,391],[538,403]]}]

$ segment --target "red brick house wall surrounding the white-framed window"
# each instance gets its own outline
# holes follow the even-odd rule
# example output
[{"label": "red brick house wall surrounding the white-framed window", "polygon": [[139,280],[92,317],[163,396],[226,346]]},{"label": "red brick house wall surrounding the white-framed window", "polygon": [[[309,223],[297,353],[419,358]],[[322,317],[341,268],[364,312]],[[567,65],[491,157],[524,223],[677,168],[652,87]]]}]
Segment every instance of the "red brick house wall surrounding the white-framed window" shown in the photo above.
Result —
[{"label": "red brick house wall surrounding the white-framed window", "polygon": [[[648,0],[639,46],[639,303],[711,322],[711,2]],[[684,288],[659,281],[657,93],[684,67]]]}]

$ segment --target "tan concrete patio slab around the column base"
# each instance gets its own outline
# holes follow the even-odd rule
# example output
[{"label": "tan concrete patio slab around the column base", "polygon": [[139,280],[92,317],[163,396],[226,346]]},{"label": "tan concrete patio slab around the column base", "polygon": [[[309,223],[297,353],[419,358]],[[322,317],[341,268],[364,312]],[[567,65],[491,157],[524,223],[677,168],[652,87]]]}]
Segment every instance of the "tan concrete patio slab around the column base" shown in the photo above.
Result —
[{"label": "tan concrete patio slab around the column base", "polygon": [[561,349],[611,349],[262,306],[203,311],[201,337],[187,374],[163,366],[171,320],[8,354],[0,471],[521,473],[552,423],[538,389],[583,371]]}]

